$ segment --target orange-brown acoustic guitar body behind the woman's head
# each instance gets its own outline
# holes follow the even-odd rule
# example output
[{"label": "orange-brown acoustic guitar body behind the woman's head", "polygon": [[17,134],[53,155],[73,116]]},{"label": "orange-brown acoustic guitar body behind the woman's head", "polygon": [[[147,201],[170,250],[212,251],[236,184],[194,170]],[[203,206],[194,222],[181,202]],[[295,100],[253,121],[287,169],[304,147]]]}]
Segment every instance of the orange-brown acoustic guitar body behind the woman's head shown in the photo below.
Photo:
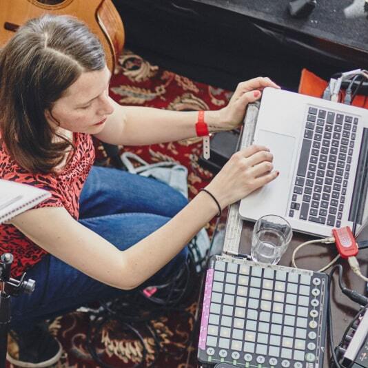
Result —
[{"label": "orange-brown acoustic guitar body behind the woman's head", "polygon": [[99,37],[108,68],[114,72],[125,32],[112,0],[0,0],[0,47],[20,25],[44,13],[73,15],[86,23]]}]

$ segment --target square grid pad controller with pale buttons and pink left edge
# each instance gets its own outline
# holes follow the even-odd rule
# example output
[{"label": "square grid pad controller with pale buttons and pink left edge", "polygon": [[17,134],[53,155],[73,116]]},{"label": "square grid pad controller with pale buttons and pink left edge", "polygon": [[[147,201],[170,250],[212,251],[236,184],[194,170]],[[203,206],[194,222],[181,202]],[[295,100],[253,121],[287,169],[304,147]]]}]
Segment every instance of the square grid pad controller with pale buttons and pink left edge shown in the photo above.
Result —
[{"label": "square grid pad controller with pale buttons and pink left edge", "polygon": [[214,256],[198,360],[236,367],[323,365],[327,275]]}]

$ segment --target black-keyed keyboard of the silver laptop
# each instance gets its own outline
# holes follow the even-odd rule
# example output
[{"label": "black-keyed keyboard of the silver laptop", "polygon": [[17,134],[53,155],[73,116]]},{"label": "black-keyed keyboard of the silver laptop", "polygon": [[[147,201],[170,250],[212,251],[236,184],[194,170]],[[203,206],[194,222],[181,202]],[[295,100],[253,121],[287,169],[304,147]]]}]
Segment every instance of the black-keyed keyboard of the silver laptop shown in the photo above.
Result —
[{"label": "black-keyed keyboard of the silver laptop", "polygon": [[309,107],[289,216],[340,227],[358,118]]}]

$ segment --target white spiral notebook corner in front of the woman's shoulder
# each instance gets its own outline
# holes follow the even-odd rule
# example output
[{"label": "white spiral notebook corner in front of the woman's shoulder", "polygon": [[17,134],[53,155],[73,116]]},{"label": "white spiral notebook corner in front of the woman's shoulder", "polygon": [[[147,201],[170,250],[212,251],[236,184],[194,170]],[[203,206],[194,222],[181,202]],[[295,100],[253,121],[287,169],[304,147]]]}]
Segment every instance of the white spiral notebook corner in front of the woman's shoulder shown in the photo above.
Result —
[{"label": "white spiral notebook corner in front of the woman's shoulder", "polygon": [[47,190],[0,179],[0,224],[31,209],[50,196]]}]

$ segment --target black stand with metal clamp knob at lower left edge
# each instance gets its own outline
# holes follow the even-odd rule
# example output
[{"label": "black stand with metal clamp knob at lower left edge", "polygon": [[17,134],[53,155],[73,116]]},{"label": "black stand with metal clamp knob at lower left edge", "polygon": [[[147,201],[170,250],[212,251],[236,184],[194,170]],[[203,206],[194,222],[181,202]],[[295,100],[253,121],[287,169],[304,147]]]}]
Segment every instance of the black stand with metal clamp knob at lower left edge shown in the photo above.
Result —
[{"label": "black stand with metal clamp knob at lower left edge", "polygon": [[8,331],[10,325],[10,296],[19,296],[25,292],[31,294],[34,291],[35,281],[24,280],[25,274],[20,280],[10,277],[13,256],[4,253],[0,257],[0,368],[6,367],[6,352],[8,351]]}]

